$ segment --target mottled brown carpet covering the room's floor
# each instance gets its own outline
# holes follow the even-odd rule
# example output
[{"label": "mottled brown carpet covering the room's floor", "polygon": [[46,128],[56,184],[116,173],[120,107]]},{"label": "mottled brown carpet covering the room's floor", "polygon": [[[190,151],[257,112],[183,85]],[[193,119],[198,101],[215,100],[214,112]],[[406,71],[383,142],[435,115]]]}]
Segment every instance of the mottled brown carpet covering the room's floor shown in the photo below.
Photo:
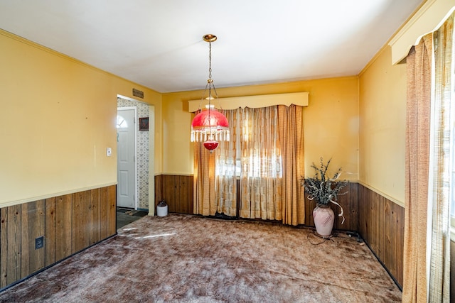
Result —
[{"label": "mottled brown carpet covering the room's floor", "polygon": [[146,216],[0,302],[401,301],[366,246],[343,233],[321,241],[311,228]]}]

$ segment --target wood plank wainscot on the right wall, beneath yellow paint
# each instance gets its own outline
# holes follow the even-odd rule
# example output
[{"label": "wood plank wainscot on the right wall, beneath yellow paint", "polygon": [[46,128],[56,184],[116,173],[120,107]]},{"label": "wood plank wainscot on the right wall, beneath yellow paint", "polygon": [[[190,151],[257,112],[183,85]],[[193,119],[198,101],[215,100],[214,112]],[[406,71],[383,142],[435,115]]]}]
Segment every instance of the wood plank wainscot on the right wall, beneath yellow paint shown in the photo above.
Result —
[{"label": "wood plank wainscot on the right wall, beneath yellow paint", "polygon": [[358,232],[390,275],[403,285],[405,208],[359,184]]}]

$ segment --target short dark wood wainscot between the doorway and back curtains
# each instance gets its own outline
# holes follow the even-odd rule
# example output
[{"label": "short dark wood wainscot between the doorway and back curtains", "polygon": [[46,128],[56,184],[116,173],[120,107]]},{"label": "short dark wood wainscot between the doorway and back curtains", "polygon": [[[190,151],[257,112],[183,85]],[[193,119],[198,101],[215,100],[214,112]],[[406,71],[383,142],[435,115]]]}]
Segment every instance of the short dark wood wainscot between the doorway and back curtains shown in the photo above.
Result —
[{"label": "short dark wood wainscot between the doorway and back curtains", "polygon": [[155,206],[162,200],[168,212],[193,214],[193,176],[155,176]]}]

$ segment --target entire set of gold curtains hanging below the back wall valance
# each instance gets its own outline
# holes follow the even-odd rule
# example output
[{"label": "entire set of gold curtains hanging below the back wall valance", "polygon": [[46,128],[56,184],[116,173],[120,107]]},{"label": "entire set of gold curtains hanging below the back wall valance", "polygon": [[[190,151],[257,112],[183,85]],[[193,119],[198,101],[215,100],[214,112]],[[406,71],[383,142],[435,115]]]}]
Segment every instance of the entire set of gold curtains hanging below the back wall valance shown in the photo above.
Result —
[{"label": "entire set of gold curtains hanging below the back wall valance", "polygon": [[220,142],[212,154],[202,143],[194,144],[194,213],[235,216],[240,177],[240,217],[304,224],[299,183],[304,175],[303,108],[269,106],[223,114],[230,141]]}]

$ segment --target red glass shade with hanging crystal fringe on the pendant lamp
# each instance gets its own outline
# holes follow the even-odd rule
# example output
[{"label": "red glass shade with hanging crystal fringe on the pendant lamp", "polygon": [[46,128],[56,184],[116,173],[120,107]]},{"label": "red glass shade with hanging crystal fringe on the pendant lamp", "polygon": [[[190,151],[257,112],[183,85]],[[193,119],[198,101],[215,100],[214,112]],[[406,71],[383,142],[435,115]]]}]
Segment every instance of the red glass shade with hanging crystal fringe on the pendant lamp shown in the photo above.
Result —
[{"label": "red glass shade with hanging crystal fringe on the pendant lamp", "polygon": [[229,141],[228,119],[213,105],[207,106],[197,114],[191,123],[191,141],[203,142],[204,147],[215,150],[218,141]]}]

